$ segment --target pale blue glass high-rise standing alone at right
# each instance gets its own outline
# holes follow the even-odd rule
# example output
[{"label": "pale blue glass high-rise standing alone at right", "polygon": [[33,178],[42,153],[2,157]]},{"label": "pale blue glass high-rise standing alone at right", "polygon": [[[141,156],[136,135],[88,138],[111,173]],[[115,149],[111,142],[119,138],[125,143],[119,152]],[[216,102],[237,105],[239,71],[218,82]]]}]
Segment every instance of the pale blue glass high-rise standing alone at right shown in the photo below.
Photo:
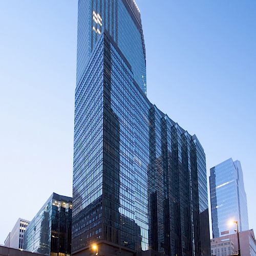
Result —
[{"label": "pale blue glass high-rise standing alone at right", "polygon": [[238,221],[239,231],[249,229],[240,161],[229,158],[210,169],[210,204],[213,238],[235,233],[230,221]]}]

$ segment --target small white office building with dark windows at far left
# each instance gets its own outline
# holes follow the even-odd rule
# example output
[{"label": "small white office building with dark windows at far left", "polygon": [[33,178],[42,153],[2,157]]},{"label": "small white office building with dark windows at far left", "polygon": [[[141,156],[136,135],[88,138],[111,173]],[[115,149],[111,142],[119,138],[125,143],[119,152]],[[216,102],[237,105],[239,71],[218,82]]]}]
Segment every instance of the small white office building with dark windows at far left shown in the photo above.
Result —
[{"label": "small white office building with dark windows at far left", "polygon": [[24,248],[24,233],[29,224],[29,221],[18,218],[11,232],[9,232],[6,240],[5,246],[20,249]]}]

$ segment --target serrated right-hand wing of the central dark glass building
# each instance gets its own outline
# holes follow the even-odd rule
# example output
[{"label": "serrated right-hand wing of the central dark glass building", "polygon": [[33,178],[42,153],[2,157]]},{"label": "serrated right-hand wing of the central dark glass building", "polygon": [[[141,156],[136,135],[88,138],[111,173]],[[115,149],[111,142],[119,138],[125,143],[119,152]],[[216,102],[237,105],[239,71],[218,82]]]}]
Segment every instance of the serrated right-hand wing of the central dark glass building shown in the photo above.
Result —
[{"label": "serrated right-hand wing of the central dark glass building", "polygon": [[150,247],[169,255],[209,255],[205,154],[197,137],[150,110]]}]

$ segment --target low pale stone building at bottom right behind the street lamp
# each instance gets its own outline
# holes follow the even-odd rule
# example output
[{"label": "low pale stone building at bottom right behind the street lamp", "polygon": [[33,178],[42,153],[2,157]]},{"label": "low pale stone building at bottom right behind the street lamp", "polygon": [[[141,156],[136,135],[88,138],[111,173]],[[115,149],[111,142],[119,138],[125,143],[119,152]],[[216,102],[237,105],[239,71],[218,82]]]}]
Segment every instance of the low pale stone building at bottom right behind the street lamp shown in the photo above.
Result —
[{"label": "low pale stone building at bottom right behind the street lamp", "polygon": [[[256,256],[256,240],[253,229],[239,232],[239,244],[241,256]],[[237,255],[237,233],[211,239],[210,247],[212,256]]]}]

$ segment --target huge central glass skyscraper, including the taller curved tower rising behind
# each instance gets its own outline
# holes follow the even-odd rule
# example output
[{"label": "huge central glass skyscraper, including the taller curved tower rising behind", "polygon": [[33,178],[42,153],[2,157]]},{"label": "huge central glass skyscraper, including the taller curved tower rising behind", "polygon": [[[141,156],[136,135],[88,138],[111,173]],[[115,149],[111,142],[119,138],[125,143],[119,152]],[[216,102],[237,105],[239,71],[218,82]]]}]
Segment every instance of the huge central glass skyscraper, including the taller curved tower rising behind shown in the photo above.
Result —
[{"label": "huge central glass skyscraper, including the taller curved tower rising behind", "polygon": [[147,99],[145,67],[136,3],[79,0],[72,255],[210,255],[203,147]]}]

